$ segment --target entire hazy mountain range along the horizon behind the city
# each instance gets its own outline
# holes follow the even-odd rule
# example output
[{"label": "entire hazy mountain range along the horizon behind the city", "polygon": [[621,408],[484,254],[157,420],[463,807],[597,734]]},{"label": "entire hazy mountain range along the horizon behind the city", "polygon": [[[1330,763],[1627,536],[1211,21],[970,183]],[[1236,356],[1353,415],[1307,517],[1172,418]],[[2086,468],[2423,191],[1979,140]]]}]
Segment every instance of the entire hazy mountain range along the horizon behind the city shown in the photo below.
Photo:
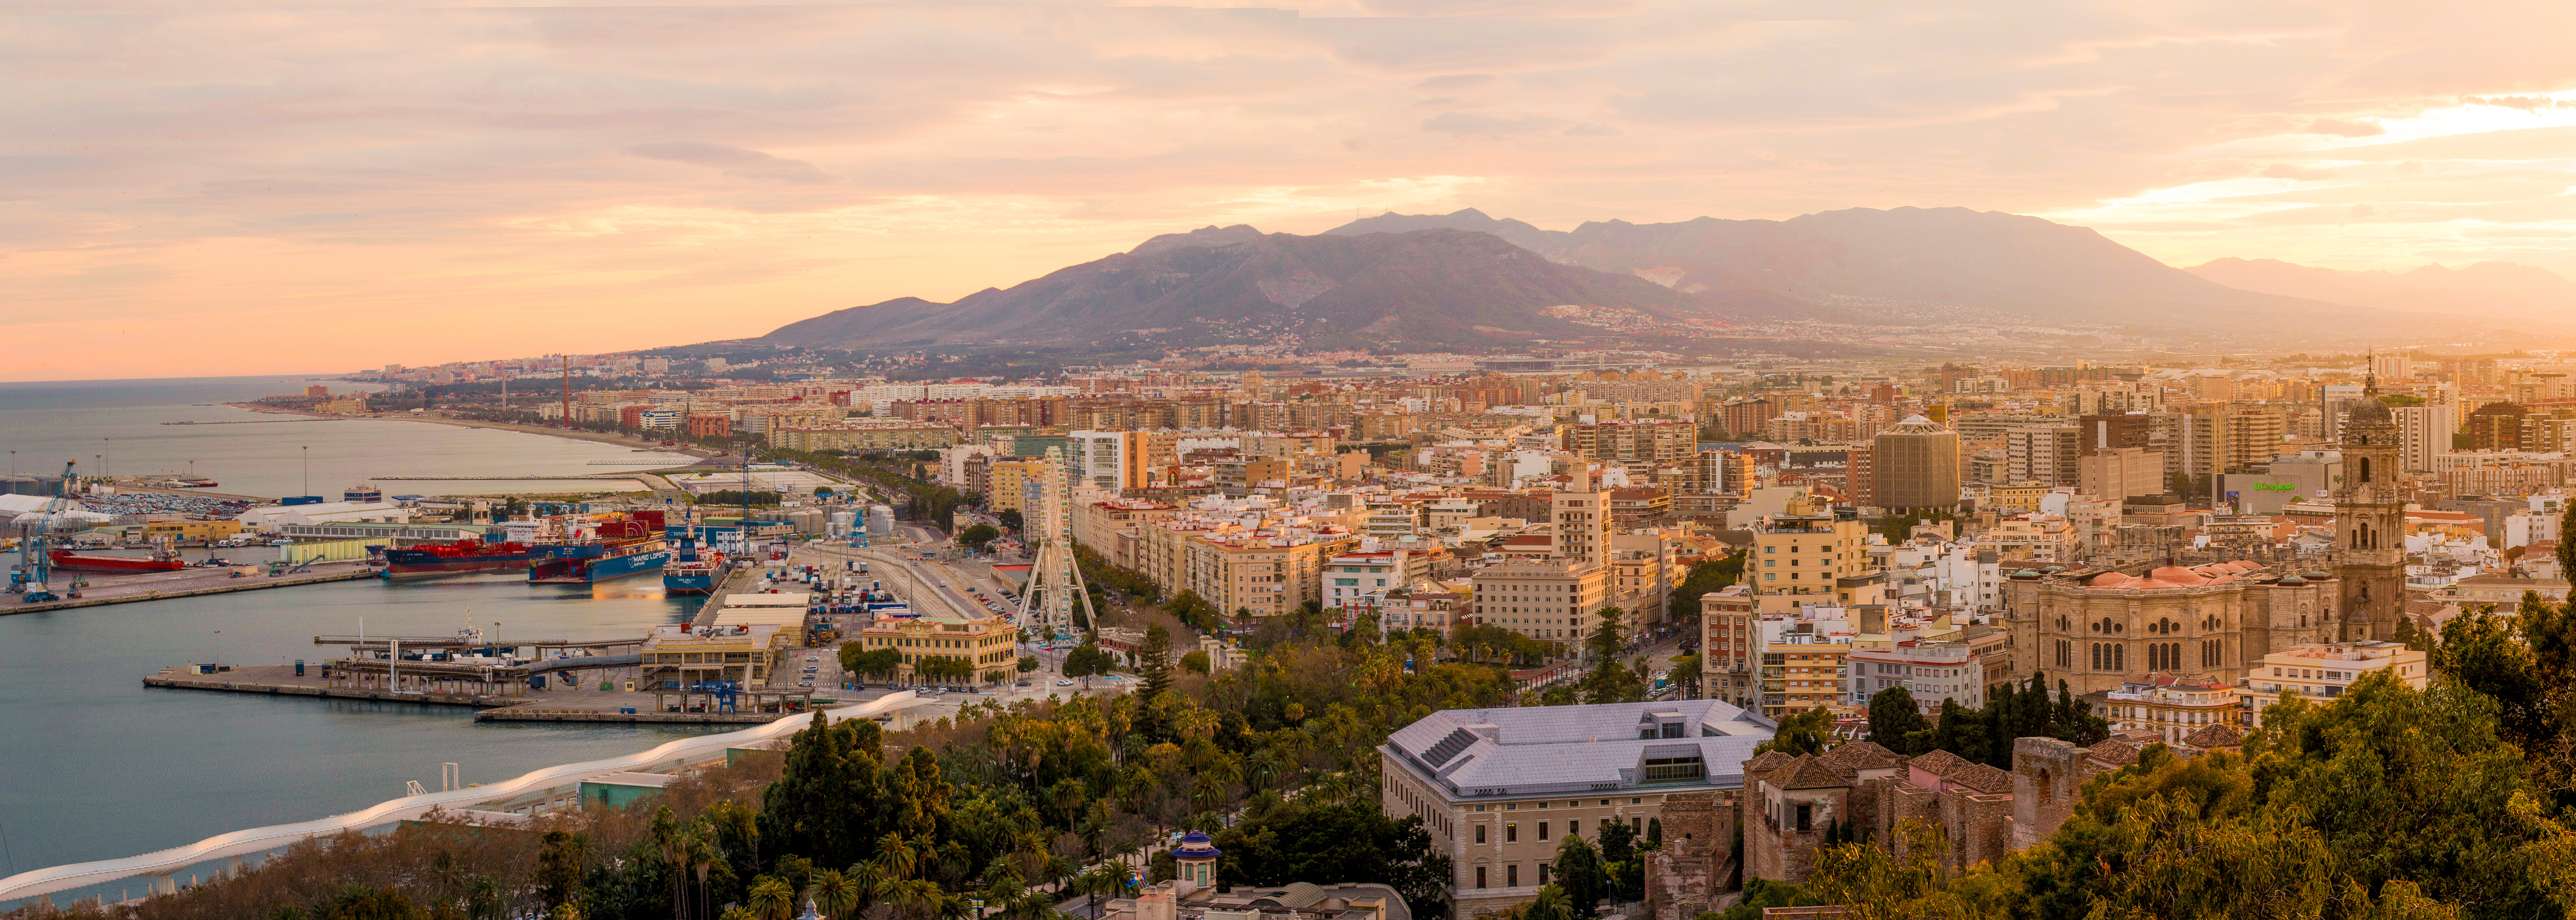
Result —
[{"label": "entire hazy mountain range along the horizon behind the city", "polygon": [[[2403,276],[2275,260],[2164,265],[2094,229],[1971,209],[1844,209],[1785,222],[1587,222],[1571,232],[1381,214],[1321,235],[1247,224],[1159,235],[956,304],[894,299],[791,322],[817,348],[1301,343],[1484,348],[1533,338],[1765,335],[1777,322],[1996,325],[2179,338],[2421,335],[2424,312],[2512,299],[2576,317],[2540,268]],[[2561,307],[2548,307],[2561,304]],[[1566,309],[1582,307],[1582,309]],[[2550,325],[2555,332],[2568,327]],[[2450,327],[2447,332],[2463,332]]]}]

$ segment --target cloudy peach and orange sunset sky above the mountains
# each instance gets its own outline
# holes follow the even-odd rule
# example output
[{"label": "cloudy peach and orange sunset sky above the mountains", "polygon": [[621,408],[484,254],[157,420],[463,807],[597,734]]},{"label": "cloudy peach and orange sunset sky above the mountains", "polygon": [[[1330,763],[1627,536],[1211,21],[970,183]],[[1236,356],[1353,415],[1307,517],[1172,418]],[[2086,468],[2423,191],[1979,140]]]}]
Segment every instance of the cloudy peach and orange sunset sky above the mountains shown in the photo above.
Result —
[{"label": "cloudy peach and orange sunset sky above the mountains", "polygon": [[2576,276],[2571,3],[0,0],[0,379],[747,338],[1159,232],[1968,206]]}]

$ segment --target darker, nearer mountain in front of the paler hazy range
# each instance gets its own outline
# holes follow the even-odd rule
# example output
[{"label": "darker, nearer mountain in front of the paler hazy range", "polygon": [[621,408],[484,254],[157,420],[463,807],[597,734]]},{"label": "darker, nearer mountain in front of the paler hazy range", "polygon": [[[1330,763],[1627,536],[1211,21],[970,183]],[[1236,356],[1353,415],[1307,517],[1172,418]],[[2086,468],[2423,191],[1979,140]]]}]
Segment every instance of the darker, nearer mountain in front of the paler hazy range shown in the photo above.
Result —
[{"label": "darker, nearer mountain in front of the paler hazy range", "polygon": [[1296,237],[1208,227],[956,304],[899,299],[853,307],[786,325],[765,340],[824,348],[1038,345],[1141,332],[1167,343],[1298,338],[1324,348],[1463,348],[1602,332],[1543,314],[1558,304],[1633,309],[1654,320],[1705,312],[1698,299],[1659,283],[1551,263],[1484,232]]}]

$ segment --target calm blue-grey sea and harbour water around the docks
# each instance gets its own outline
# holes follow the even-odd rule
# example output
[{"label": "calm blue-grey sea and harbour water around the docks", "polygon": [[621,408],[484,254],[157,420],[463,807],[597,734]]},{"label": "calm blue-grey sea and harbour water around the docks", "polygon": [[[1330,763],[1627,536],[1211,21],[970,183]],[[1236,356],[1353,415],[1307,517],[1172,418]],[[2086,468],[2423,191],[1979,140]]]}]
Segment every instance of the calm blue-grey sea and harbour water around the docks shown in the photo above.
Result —
[{"label": "calm blue-grey sea and harbour water around the docks", "polygon": [[[0,384],[0,448],[18,474],[198,474],[214,492],[325,495],[374,477],[572,477],[654,469],[677,454],[407,420],[273,423],[227,407],[358,389],[294,376]],[[193,425],[165,425],[165,423]],[[247,425],[216,425],[247,423]],[[93,466],[95,464],[95,466]],[[381,482],[386,495],[404,492]],[[435,495],[430,490],[420,490]],[[245,562],[260,549],[224,549]],[[15,564],[15,557],[8,557]],[[489,783],[647,750],[693,727],[477,724],[471,709],[155,691],[167,665],[278,665],[345,655],[317,634],[507,639],[634,637],[696,613],[662,582],[528,585],[518,575],[355,580],[211,598],[0,616],[0,879],[139,856],[219,832],[353,812],[438,789],[440,763]],[[183,879],[185,881],[185,879]],[[142,881],[70,894],[111,902]],[[8,910],[10,905],[0,905]]]}]

